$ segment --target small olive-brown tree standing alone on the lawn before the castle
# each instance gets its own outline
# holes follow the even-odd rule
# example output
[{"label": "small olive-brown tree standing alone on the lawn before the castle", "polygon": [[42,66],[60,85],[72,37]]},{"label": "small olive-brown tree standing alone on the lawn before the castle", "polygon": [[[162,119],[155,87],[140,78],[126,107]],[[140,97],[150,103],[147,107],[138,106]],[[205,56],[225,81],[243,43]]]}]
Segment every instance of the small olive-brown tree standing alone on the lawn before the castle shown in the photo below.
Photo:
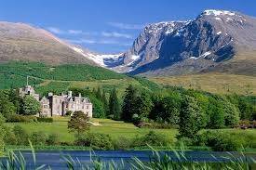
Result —
[{"label": "small olive-brown tree standing alone on the lawn before the castle", "polygon": [[74,111],[71,120],[68,122],[68,128],[71,131],[75,131],[79,137],[80,134],[89,130],[88,120],[88,115],[83,111]]}]

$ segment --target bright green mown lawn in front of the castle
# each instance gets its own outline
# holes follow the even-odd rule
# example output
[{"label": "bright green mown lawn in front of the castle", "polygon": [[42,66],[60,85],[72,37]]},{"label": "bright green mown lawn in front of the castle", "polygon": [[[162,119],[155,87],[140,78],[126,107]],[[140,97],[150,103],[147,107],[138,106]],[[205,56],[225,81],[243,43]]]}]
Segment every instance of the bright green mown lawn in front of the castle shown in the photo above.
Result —
[{"label": "bright green mown lawn in front of the castle", "polygon": [[[73,142],[74,134],[67,129],[66,117],[55,117],[53,123],[7,123],[9,126],[20,124],[29,133],[43,131],[46,134],[56,133],[61,137],[63,142]],[[136,137],[148,133],[151,129],[138,128],[133,124],[124,123],[121,121],[113,121],[110,119],[93,119],[93,122],[99,122],[101,126],[91,126],[91,132],[98,132],[102,134],[109,134],[111,137]],[[157,133],[161,133],[173,141],[177,134],[177,129],[155,129]]]}]

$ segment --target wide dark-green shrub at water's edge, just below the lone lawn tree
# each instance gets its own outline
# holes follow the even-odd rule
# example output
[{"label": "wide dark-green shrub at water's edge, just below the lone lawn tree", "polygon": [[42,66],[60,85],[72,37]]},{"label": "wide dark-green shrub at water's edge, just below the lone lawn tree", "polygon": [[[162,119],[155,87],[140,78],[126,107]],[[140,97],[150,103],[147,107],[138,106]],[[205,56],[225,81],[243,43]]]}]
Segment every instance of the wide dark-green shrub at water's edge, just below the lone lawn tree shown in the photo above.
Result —
[{"label": "wide dark-green shrub at water's edge, just below the lone lawn tree", "polygon": [[112,150],[112,138],[100,133],[86,133],[75,140],[79,146],[91,147],[93,150]]}]

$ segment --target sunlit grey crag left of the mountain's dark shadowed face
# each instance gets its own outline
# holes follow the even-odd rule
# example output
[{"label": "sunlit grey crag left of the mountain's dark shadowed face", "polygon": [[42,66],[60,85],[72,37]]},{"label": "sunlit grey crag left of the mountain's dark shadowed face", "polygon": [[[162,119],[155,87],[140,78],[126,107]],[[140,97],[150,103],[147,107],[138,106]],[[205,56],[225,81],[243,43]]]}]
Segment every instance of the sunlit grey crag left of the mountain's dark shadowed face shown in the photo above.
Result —
[{"label": "sunlit grey crag left of the mountain's dark shadowed face", "polygon": [[119,66],[111,67],[117,72],[131,72],[159,57],[159,44],[169,33],[181,28],[186,22],[170,21],[149,24],[140,33],[130,49],[119,56]]}]

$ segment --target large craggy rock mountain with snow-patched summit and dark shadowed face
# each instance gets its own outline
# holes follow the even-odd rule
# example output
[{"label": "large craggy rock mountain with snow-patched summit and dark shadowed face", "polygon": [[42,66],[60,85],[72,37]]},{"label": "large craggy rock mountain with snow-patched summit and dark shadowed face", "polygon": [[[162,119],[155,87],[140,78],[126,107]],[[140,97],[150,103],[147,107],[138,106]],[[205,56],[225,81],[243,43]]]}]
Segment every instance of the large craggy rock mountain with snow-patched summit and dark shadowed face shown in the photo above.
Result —
[{"label": "large craggy rock mountain with snow-patched summit and dark shadowed face", "polygon": [[[121,56],[121,64],[112,69],[143,75],[222,72],[226,66],[231,67],[229,63],[234,59],[241,58],[242,53],[255,49],[255,18],[210,9],[195,20],[146,26],[128,52]],[[243,60],[243,65],[255,57],[249,58]]]}]

